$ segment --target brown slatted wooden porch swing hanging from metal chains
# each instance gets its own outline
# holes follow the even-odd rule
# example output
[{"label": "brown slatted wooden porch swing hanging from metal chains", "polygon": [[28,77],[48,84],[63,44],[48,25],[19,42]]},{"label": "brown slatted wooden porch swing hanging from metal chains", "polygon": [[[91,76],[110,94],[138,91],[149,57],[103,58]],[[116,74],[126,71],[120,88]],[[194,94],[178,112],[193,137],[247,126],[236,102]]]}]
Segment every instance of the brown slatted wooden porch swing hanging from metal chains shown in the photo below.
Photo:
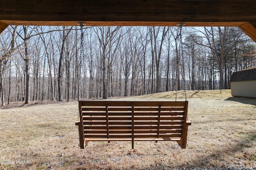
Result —
[{"label": "brown slatted wooden porch swing hanging from metal chains", "polygon": [[[180,27],[178,56],[182,57],[184,74],[181,35],[183,25],[178,24]],[[78,117],[80,118],[76,125],[79,130],[80,148],[84,149],[89,141],[108,141],[108,143],[132,141],[132,149],[134,149],[134,141],[177,141],[180,147],[185,149],[188,126],[191,122],[187,119],[188,101],[176,101],[177,76],[179,76],[178,71],[176,71],[175,102],[79,101]],[[185,99],[187,99],[184,75],[183,80]]]}]

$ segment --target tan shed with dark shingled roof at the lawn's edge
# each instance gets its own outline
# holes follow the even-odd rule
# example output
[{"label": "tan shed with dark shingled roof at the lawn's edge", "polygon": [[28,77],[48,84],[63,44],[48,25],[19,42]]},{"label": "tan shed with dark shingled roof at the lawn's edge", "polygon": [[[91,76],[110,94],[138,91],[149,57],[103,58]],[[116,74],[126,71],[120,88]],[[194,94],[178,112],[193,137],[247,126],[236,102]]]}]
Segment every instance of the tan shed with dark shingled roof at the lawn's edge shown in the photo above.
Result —
[{"label": "tan shed with dark shingled roof at the lawn's edge", "polygon": [[244,68],[232,74],[231,94],[256,98],[256,66]]}]

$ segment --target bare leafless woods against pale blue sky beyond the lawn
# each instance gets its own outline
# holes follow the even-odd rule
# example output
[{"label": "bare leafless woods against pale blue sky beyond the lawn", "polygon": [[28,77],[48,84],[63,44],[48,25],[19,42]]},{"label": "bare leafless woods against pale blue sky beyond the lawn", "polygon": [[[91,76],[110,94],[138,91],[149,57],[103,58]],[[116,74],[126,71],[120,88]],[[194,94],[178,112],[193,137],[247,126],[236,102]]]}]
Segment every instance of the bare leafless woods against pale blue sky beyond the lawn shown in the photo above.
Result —
[{"label": "bare leafless woods against pale blue sky beyond the lawn", "polygon": [[232,72],[255,66],[256,45],[238,27],[183,27],[182,41],[179,31],[9,26],[0,34],[0,103],[228,89]]}]

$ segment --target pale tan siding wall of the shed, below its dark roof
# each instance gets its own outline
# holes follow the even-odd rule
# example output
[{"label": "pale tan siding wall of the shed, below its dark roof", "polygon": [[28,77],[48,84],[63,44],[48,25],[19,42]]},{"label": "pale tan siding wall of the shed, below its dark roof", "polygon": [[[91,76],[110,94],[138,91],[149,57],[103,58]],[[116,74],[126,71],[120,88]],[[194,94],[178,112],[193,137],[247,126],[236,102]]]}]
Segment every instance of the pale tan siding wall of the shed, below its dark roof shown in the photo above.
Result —
[{"label": "pale tan siding wall of the shed, below its dark roof", "polygon": [[231,82],[232,96],[256,98],[256,80]]}]

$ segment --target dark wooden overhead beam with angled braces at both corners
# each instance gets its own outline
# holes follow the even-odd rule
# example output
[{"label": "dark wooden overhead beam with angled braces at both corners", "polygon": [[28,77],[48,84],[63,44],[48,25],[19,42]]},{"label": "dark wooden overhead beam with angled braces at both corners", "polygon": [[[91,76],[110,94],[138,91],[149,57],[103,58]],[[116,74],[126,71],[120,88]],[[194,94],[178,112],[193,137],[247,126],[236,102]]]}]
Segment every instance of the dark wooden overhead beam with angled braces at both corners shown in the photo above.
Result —
[{"label": "dark wooden overhead beam with angled braces at both corners", "polygon": [[256,42],[256,0],[1,0],[8,25],[238,26]]}]

